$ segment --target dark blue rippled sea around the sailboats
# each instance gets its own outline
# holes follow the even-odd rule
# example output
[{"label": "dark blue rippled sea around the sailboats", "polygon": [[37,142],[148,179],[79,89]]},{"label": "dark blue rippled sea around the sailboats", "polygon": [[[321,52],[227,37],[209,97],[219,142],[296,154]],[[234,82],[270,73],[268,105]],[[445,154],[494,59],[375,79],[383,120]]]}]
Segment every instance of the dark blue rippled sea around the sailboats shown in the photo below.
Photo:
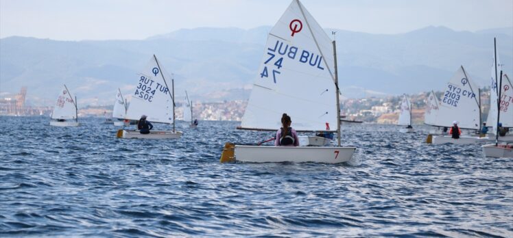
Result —
[{"label": "dark blue rippled sea around the sailboats", "polygon": [[221,164],[273,133],[122,140],[102,121],[0,117],[0,237],[513,237],[513,159],[425,144],[429,127],[344,125],[349,163]]}]

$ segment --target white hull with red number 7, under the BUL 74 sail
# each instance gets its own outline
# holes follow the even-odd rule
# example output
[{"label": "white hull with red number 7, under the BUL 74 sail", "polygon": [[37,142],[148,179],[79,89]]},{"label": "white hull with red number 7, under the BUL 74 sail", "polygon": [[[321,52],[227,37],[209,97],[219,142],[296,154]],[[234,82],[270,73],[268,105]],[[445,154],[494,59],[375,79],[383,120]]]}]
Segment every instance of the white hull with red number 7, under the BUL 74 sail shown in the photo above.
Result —
[{"label": "white hull with red number 7, under the BUL 74 sail", "polygon": [[239,146],[235,145],[235,159],[243,162],[318,162],[342,163],[349,161],[356,147],[293,147],[293,146]]}]

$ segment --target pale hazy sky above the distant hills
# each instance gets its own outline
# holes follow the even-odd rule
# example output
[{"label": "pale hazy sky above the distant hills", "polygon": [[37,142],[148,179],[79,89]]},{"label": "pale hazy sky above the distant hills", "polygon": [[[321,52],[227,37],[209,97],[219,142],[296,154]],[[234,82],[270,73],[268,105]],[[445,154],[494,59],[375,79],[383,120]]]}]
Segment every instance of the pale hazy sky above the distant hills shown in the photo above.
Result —
[{"label": "pale hazy sky above the distant hills", "polygon": [[[144,39],[180,28],[274,25],[290,0],[0,0],[0,38]],[[513,26],[513,0],[302,0],[325,28],[395,34]]]}]

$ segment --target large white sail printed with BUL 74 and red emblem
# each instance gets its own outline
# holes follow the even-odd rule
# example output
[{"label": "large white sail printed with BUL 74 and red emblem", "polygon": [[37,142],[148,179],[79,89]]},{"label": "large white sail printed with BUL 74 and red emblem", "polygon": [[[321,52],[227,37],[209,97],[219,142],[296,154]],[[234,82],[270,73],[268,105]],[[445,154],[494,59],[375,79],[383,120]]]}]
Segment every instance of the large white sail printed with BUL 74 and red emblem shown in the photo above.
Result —
[{"label": "large white sail printed with BUL 74 and red emblem", "polygon": [[333,43],[297,0],[267,36],[241,127],[278,129],[291,116],[296,130],[337,126]]}]

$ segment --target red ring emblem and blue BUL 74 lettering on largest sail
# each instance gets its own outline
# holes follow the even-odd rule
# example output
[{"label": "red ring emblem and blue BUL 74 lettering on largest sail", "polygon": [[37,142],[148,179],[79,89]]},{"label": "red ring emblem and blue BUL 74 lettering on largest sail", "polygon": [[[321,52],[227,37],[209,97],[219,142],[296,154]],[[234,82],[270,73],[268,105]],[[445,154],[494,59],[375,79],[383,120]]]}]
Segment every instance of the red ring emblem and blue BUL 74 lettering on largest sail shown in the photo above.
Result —
[{"label": "red ring emblem and blue BUL 74 lettering on largest sail", "polygon": [[[294,37],[296,33],[299,33],[302,30],[302,22],[298,19],[292,20],[289,24],[289,29],[291,31],[291,37]],[[324,66],[322,66],[322,56],[320,56],[320,53],[314,53],[307,49],[299,49],[298,47],[289,45],[278,38],[274,43],[274,47],[271,44],[271,47],[267,48],[267,59],[265,59],[265,62],[263,63],[264,66],[260,73],[260,77],[270,77],[271,72],[274,83],[277,83],[278,75],[281,74],[281,68],[283,67],[284,58],[297,60],[307,66],[324,70]]]}]

